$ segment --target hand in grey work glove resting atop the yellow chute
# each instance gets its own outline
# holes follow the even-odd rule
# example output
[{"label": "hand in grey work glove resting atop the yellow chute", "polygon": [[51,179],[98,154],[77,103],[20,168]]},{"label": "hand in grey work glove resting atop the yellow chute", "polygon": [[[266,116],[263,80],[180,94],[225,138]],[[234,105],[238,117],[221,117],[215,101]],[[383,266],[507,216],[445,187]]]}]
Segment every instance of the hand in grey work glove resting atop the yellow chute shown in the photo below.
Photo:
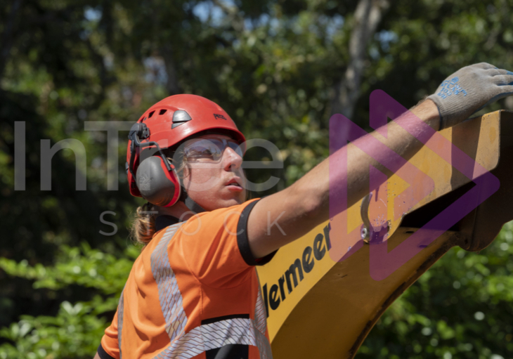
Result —
[{"label": "hand in grey work glove resting atop the yellow chute", "polygon": [[488,63],[457,70],[429,96],[440,112],[440,128],[446,129],[467,119],[474,112],[513,94],[513,72]]}]

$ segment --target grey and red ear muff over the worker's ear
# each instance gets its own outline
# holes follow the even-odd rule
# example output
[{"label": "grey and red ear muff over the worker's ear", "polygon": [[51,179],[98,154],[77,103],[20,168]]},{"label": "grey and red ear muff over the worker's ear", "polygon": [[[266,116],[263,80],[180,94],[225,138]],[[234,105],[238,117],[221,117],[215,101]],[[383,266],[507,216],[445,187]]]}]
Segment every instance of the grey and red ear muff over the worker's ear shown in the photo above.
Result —
[{"label": "grey and red ear muff over the worker's ear", "polygon": [[136,183],[145,200],[161,207],[171,207],[181,195],[178,174],[172,164],[167,170],[164,159],[150,156],[139,164],[136,172]]}]

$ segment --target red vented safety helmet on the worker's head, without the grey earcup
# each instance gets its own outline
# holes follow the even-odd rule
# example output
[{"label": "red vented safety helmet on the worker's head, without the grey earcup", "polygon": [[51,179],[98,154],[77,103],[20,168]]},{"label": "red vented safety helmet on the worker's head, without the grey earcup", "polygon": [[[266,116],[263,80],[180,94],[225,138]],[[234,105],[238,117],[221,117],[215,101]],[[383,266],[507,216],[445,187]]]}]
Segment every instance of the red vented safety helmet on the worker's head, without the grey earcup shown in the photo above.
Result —
[{"label": "red vented safety helmet on the worker's head, without the grey earcup", "polygon": [[[172,148],[190,136],[209,130],[221,130],[233,136],[239,143],[246,141],[225,110],[207,98],[196,95],[174,95],[152,105],[134,124],[129,135],[126,172],[131,195],[143,197],[134,178],[143,150],[153,148],[155,152],[158,148],[160,150]],[[172,165],[170,168],[166,162],[162,163],[162,167],[164,170],[167,167],[167,171],[164,171],[167,172],[167,178],[178,186],[173,198],[169,198],[167,204],[164,204],[171,206],[180,196],[180,185]]]}]

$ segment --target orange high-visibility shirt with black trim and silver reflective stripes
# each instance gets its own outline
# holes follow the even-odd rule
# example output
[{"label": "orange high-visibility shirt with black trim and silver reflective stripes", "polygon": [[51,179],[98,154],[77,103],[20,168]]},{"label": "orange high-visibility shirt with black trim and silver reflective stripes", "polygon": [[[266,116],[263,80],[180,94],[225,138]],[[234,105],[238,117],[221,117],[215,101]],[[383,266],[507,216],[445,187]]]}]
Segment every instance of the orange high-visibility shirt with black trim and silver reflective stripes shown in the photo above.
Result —
[{"label": "orange high-visibility shirt with black trim and silver reflective stripes", "polygon": [[[105,329],[101,358],[272,358],[246,227],[257,200],[157,218]],[[171,224],[174,223],[174,224]],[[171,224],[171,226],[169,226]]]}]

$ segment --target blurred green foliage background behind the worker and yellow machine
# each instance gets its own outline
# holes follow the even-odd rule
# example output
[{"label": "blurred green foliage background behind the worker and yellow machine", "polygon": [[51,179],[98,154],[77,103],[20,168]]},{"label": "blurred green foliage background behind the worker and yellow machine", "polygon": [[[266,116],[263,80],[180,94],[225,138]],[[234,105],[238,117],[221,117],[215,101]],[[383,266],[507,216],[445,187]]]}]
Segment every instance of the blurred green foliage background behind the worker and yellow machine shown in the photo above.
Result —
[{"label": "blurred green foliage background behind the worker and yellow machine", "polygon": [[[85,121],[136,119],[173,93],[220,103],[247,138],[280,148],[294,183],[328,154],[327,121],[349,61],[355,1],[13,0],[0,4],[0,358],[91,358],[138,254],[119,141],[108,191],[106,133]],[[382,89],[415,105],[458,68],[513,69],[512,0],[394,1],[368,44],[353,120]],[[513,108],[502,100],[483,112]],[[26,190],[14,191],[14,122],[26,124]],[[40,140],[81,141],[53,157],[40,190]],[[247,159],[268,153],[254,149]],[[116,223],[115,235],[101,235]],[[512,218],[513,219],[513,218]],[[513,226],[483,252],[453,249],[387,311],[356,358],[511,358]]]}]

